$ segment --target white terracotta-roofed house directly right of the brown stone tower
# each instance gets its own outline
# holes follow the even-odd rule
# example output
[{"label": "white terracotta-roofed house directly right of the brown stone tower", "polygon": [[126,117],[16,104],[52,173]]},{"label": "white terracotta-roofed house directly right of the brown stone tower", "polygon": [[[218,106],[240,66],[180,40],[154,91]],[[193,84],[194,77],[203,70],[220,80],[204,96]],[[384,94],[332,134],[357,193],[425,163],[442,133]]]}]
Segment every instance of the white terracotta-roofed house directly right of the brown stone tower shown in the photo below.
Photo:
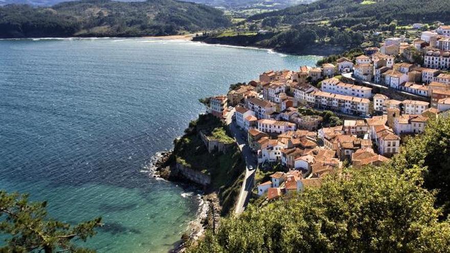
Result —
[{"label": "white terracotta-roofed house directly right of the brown stone tower", "polygon": [[428,118],[422,115],[403,114],[394,119],[394,131],[397,135],[421,133],[425,130]]}]

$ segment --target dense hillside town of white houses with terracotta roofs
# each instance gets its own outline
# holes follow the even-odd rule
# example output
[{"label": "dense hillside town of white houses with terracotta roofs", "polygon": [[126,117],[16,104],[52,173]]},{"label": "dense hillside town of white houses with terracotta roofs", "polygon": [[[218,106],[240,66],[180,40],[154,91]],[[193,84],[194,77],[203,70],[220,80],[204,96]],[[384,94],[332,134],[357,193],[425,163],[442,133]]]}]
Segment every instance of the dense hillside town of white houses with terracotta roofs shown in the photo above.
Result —
[{"label": "dense hillside town of white houses with terracotta roofs", "polygon": [[[258,80],[213,97],[209,112],[225,118],[235,108],[236,125],[246,133],[258,164],[280,164],[283,171],[258,185],[258,195],[272,200],[292,191],[320,185],[344,161],[361,168],[379,165],[398,153],[403,135],[424,131],[430,119],[450,112],[450,27],[423,32],[407,43],[389,38],[381,48],[368,48],[354,59],[335,65],[301,66],[298,71],[267,71]],[[423,66],[408,59],[421,52]],[[439,52],[439,55],[438,53]],[[441,57],[447,60],[441,61]],[[394,100],[373,94],[367,86],[345,83],[342,73],[421,96],[419,100]],[[312,83],[321,83],[318,85]],[[364,85],[364,84],[363,84]],[[317,115],[302,114],[301,107],[351,114],[342,126],[322,127]],[[379,116],[371,116],[371,112]]]}]

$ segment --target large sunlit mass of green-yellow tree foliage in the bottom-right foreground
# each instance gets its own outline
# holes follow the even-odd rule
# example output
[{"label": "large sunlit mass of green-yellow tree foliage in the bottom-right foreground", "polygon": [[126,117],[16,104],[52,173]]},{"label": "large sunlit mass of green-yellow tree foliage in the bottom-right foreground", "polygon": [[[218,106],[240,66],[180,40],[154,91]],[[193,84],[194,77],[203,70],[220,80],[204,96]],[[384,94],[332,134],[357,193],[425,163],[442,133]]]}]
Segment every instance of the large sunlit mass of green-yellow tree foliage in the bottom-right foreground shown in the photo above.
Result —
[{"label": "large sunlit mass of green-yellow tree foliage in the bottom-right foreground", "polygon": [[[343,169],[263,208],[224,219],[189,252],[448,252],[450,121],[432,121],[389,163]],[[439,158],[437,158],[439,157]]]}]

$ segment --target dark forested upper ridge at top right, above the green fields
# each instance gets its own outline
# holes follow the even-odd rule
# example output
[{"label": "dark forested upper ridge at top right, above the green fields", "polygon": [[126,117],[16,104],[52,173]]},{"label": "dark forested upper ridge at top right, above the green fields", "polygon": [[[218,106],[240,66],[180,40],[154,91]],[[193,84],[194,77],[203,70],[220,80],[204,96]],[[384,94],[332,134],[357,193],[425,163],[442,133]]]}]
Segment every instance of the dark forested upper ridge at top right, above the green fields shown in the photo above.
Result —
[{"label": "dark forested upper ridge at top right, above the green fields", "polygon": [[331,19],[346,25],[358,22],[397,20],[410,22],[450,21],[450,1],[442,0],[319,0],[308,5],[297,5],[283,10],[250,17],[258,20],[281,17],[286,24]]}]

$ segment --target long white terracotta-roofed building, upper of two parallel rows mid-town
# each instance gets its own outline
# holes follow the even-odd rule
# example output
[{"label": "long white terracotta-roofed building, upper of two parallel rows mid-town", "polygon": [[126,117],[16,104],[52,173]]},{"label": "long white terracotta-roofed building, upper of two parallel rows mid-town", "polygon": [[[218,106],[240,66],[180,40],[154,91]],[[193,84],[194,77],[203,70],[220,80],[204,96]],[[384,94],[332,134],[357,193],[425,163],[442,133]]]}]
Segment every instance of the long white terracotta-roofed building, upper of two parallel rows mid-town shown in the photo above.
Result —
[{"label": "long white terracotta-roofed building, upper of two parallel rows mid-town", "polygon": [[371,98],[372,88],[343,83],[337,78],[329,78],[322,81],[321,90],[333,94],[341,94],[358,98]]}]

